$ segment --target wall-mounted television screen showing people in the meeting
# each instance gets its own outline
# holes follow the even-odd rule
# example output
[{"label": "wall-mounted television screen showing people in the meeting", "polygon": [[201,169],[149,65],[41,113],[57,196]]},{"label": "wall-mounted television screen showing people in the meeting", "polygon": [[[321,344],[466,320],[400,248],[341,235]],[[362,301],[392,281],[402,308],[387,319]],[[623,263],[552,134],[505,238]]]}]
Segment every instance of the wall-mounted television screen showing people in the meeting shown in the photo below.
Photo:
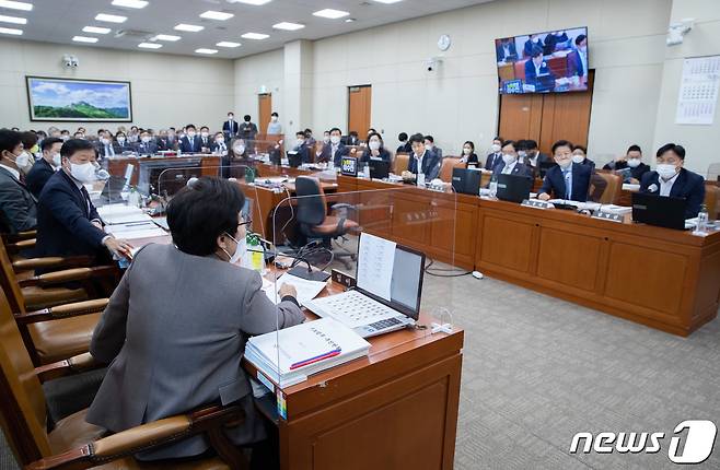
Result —
[{"label": "wall-mounted television screen showing people in the meeting", "polygon": [[588,28],[495,40],[501,94],[588,90]]}]

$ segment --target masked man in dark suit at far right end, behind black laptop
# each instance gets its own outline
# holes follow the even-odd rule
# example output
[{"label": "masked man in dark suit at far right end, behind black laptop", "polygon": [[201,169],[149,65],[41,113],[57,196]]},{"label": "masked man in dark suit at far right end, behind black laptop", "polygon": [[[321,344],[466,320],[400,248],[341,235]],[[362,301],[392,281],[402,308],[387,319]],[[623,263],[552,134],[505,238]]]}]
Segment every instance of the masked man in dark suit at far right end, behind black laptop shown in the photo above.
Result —
[{"label": "masked man in dark suit at far right end, behind black laptop", "polygon": [[685,149],[675,143],[666,143],[658,149],[655,156],[655,171],[642,176],[640,191],[684,198],[687,202],[685,219],[696,218],[705,201],[705,179],[697,173],[683,168]]}]

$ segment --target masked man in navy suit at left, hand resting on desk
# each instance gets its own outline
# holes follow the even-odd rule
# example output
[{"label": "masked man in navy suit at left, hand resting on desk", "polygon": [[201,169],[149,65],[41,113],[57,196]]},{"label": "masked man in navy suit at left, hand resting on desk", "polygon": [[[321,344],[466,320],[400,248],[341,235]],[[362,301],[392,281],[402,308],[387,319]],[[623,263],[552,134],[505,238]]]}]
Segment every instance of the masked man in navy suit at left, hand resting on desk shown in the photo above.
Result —
[{"label": "masked man in navy suit at left, hand resting on desk", "polygon": [[107,262],[109,254],[130,258],[132,246],[105,233],[84,187],[95,179],[92,143],[70,139],[60,155],[62,165],[47,180],[37,205],[37,256],[88,255],[98,263]]}]

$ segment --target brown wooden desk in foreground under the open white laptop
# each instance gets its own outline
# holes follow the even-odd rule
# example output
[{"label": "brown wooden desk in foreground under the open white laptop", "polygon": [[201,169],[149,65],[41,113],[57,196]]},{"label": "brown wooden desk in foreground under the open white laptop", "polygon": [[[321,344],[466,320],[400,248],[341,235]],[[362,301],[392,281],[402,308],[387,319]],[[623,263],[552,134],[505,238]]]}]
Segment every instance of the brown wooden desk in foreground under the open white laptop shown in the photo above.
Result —
[{"label": "brown wooden desk in foreground under the open white laptop", "polygon": [[[170,236],[136,244],[148,243]],[[321,296],[341,290],[330,282]],[[429,327],[429,317],[419,324]],[[369,341],[367,357],[275,390],[287,408],[277,422],[283,470],[453,468],[464,331],[402,330]],[[257,377],[253,364],[243,367]]]}]

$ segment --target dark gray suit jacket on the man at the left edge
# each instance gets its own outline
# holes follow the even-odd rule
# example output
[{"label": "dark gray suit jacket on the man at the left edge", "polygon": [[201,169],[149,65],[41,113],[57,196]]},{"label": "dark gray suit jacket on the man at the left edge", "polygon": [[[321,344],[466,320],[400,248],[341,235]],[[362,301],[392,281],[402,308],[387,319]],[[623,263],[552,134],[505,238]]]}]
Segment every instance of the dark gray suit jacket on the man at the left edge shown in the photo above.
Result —
[{"label": "dark gray suit jacket on the man at the left edge", "polygon": [[[0,227],[10,233],[37,226],[37,200],[5,168],[0,167]],[[8,225],[2,227],[2,225]]]}]

